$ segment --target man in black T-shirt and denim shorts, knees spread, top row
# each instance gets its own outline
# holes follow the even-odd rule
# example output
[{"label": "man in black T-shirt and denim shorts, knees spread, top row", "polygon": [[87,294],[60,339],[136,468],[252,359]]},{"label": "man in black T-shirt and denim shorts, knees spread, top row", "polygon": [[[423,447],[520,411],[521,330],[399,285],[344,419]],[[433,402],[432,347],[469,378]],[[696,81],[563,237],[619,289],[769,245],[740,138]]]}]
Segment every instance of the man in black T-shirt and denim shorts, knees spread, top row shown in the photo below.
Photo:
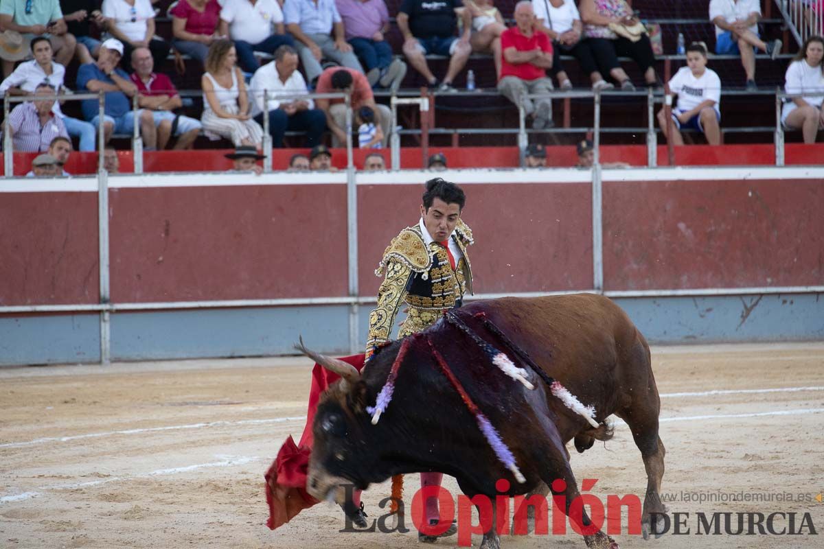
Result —
[{"label": "man in black T-shirt and denim shorts, knees spread, top row", "polygon": [[[461,38],[455,36],[457,14],[463,19]],[[469,37],[472,15],[463,10],[461,0],[428,2],[428,0],[403,0],[396,18],[400,33],[404,35],[404,54],[412,66],[426,79],[429,87],[438,91],[455,91],[452,81],[466,65],[472,53]],[[429,70],[426,55],[449,57],[449,67],[438,86],[438,78]]]}]

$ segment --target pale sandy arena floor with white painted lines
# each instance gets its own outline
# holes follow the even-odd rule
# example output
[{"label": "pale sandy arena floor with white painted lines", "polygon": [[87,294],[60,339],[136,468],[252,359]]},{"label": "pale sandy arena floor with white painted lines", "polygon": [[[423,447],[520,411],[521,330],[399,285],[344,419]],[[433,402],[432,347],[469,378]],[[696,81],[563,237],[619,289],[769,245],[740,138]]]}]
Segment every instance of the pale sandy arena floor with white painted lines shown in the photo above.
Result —
[{"label": "pale sandy arena floor with white painted lines", "polygon": [[[691,533],[623,534],[621,547],[824,547],[824,343],[657,347],[653,366],[662,488],[671,512],[691,514]],[[302,432],[309,371],[297,358],[0,369],[0,547],[419,547],[414,531],[338,533],[343,515],[325,504],[265,527],[263,474],[286,435]],[[599,479],[593,493],[644,491],[626,426],[606,448],[572,452],[578,482]],[[417,482],[407,477],[408,491]],[[451,478],[445,486],[457,492]],[[370,519],[388,493],[364,495]],[[698,511],[795,512],[796,528],[808,513],[818,535],[696,536]],[[585,546],[569,533],[503,547]]]}]

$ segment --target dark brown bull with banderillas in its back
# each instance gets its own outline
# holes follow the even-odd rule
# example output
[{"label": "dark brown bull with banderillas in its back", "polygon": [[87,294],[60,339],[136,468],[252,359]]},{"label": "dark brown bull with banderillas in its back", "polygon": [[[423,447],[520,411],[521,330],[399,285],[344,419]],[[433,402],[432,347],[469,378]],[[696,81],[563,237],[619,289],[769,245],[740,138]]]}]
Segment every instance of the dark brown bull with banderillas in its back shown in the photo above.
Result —
[{"label": "dark brown bull with banderillas in its back", "polygon": [[[400,473],[438,471],[455,477],[467,496],[486,495],[494,501],[501,493],[495,482],[501,478],[508,480],[505,493],[510,496],[546,490],[562,479],[565,488],[558,483],[559,491],[555,486],[551,490],[564,496],[569,514],[579,491],[565,444],[574,440],[583,452],[594,440],[607,440],[611,430],[604,420],[615,414],[630,427],[644,460],[642,526],[647,537],[656,514],[665,511],[658,496],[665,450],[658,437],[660,401],[649,347],[625,312],[606,297],[577,294],[477,301],[452,314],[489,345],[505,350],[513,362],[531,365],[525,370],[534,388],[489,365],[478,342],[442,319],[410,336],[415,341],[406,344],[391,404],[373,425],[367,409],[376,402],[401,343],[378,351],[362,373],[301,347],[342,377],[317,408],[307,491],[318,500],[334,497],[343,503],[341,485],[365,489]],[[496,458],[461,396],[438,369],[433,349],[497,427],[525,482],[518,482]],[[595,407],[597,427],[550,391],[548,376]],[[585,510],[579,519],[584,526],[591,524]],[[588,547],[617,547],[601,530],[583,537]],[[499,547],[494,527],[484,533],[481,547]]]}]

